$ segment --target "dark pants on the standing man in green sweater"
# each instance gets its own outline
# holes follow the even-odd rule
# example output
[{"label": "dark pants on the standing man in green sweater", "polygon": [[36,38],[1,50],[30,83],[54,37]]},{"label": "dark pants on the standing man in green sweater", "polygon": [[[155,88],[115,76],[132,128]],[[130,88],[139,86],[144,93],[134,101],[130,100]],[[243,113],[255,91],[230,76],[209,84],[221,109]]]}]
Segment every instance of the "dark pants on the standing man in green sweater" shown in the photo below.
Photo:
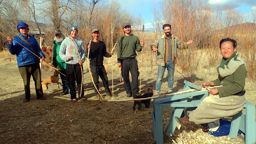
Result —
[{"label": "dark pants on the standing man in green sweater", "polygon": [[[130,85],[129,71],[132,76],[132,86]],[[139,68],[138,62],[134,59],[124,59],[122,63],[122,77],[124,80],[124,88],[128,94],[137,94],[139,91]]]}]

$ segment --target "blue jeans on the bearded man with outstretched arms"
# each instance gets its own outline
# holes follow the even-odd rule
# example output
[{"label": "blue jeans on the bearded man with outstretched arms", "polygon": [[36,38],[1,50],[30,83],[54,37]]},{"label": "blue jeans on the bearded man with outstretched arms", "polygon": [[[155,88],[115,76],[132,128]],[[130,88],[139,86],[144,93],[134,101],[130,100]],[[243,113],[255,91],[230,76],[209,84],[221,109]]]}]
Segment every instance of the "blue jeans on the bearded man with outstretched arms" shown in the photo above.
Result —
[{"label": "blue jeans on the bearded man with outstretched arms", "polygon": [[156,86],[155,91],[160,93],[162,78],[164,77],[165,68],[167,68],[168,72],[168,90],[172,89],[172,85],[174,83],[174,65],[171,61],[168,61],[165,66],[158,65],[158,76],[156,78]]}]

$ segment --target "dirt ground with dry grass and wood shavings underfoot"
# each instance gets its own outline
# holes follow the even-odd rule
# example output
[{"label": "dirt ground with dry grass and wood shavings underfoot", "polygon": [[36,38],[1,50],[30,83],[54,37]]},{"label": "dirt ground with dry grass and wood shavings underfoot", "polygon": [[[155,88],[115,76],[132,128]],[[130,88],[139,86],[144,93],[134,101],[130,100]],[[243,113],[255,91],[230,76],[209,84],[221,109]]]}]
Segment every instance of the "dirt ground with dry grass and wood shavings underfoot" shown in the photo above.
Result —
[{"label": "dirt ground with dry grass and wood shavings underfoot", "polygon": [[[87,67],[87,65],[84,65]],[[114,66],[117,69],[117,66]],[[86,69],[86,68],[85,68]],[[142,76],[142,93],[150,85],[155,85],[157,67],[144,72]],[[116,70],[118,71],[118,70]],[[33,80],[31,79],[31,101],[23,103],[23,82],[18,72],[16,61],[0,63],[0,143],[2,144],[151,144],[154,142],[152,132],[153,100],[149,109],[132,110],[133,102],[108,102],[95,98],[93,84],[89,73],[84,73],[85,102],[71,103],[69,95],[59,96],[62,88],[57,84],[50,84],[46,101],[36,100]],[[42,79],[51,76],[53,72],[42,71]],[[214,78],[217,77],[216,73]],[[108,74],[112,89],[112,75]],[[175,72],[174,89],[183,88],[184,77]],[[191,76],[196,83],[210,81],[204,73]],[[162,92],[167,87],[166,74],[162,84]],[[61,82],[61,81],[60,81]],[[114,99],[128,99],[124,91],[123,82],[119,82],[116,72],[113,80]],[[246,98],[255,102],[255,83],[246,83]],[[104,96],[102,82],[100,92]],[[165,128],[171,117],[172,108],[164,108],[163,125]],[[163,133],[164,133],[163,132]],[[244,143],[241,138],[230,139],[229,136],[213,137],[203,133],[198,126],[176,130],[173,137],[164,134],[164,143]]]}]

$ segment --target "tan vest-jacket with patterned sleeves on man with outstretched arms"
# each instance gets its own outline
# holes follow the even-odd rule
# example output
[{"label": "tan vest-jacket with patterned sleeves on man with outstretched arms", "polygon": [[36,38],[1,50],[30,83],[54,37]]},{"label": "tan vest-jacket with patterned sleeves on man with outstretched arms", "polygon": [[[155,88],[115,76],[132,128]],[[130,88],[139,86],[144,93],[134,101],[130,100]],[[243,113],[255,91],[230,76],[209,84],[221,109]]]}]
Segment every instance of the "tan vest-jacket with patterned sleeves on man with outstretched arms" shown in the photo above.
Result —
[{"label": "tan vest-jacket with patterned sleeves on man with outstretched arms", "polygon": [[[150,48],[155,47],[158,48],[157,51],[157,55],[158,55],[158,59],[164,59],[164,54],[165,54],[165,39],[166,39],[166,35],[162,35],[158,38],[156,38],[155,42],[150,45]],[[173,43],[174,41],[174,43]],[[172,60],[173,63],[176,63],[176,57],[177,57],[177,48],[178,49],[187,49],[187,43],[181,43],[180,40],[174,36],[173,34],[171,35],[171,43],[172,43]]]}]

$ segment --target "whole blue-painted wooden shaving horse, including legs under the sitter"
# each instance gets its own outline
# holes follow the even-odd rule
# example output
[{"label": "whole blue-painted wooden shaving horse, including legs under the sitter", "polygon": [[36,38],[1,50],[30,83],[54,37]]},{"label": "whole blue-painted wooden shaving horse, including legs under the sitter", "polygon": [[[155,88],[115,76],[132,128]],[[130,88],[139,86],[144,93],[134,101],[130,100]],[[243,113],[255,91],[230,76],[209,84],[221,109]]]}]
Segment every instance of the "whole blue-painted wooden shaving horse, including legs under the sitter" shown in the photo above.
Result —
[{"label": "whole blue-painted wooden shaving horse, including legs under the sitter", "polygon": [[[185,86],[181,91],[189,89],[200,89],[198,85],[184,81]],[[163,144],[162,107],[175,107],[165,134],[172,136],[177,126],[175,116],[180,117],[185,107],[197,107],[201,101],[208,96],[208,91],[195,91],[183,94],[172,95],[177,92],[166,94],[167,97],[154,99],[154,111],[152,112],[153,134],[156,144]],[[171,96],[168,96],[171,95]],[[242,112],[233,116],[230,128],[230,138],[236,138],[238,129],[245,133],[245,143],[255,144],[256,122],[255,105],[246,101],[245,114]]]}]

